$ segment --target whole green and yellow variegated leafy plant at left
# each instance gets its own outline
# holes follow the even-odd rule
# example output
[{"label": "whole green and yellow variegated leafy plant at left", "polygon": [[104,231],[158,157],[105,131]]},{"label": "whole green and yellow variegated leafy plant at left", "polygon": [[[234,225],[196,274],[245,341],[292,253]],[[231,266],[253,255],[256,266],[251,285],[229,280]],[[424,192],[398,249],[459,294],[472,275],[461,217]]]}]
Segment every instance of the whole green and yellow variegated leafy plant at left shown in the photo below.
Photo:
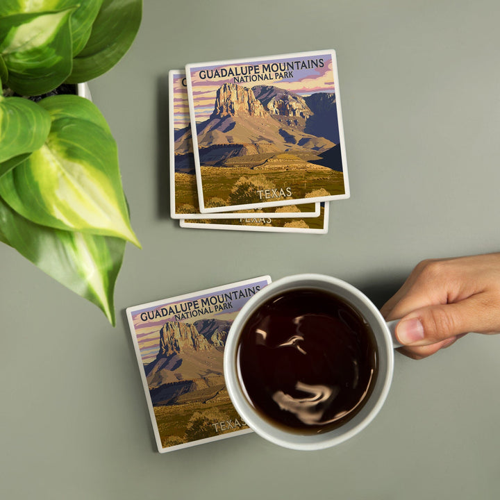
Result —
[{"label": "whole green and yellow variegated leafy plant at left", "polygon": [[125,244],[140,244],[106,119],[59,90],[113,67],[141,15],[142,0],[0,2],[0,242],[113,326]]}]

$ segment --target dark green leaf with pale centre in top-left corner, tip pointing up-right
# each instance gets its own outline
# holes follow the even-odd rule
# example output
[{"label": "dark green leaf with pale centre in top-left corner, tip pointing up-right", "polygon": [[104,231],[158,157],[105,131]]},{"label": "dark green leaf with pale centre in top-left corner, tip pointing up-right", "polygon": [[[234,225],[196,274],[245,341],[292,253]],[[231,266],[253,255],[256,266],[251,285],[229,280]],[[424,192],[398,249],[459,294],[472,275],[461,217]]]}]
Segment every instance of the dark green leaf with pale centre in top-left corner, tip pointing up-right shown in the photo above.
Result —
[{"label": "dark green leaf with pale centre in top-left corner, tip pointing up-right", "polygon": [[8,87],[21,95],[40,95],[65,81],[72,72],[73,11],[0,17],[0,56],[8,69]]}]

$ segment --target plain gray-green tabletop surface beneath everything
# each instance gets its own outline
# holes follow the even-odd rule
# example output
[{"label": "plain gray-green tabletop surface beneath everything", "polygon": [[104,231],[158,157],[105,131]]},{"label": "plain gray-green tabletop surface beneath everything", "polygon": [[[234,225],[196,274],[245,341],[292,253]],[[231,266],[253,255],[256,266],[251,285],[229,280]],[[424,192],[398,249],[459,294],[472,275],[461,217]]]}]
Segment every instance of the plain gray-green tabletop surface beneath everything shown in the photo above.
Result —
[{"label": "plain gray-green tabletop surface beneath everything", "polygon": [[[496,0],[144,0],[142,28],[90,83],[119,145],[142,250],[117,326],[0,247],[2,499],[497,499],[500,335],[396,356],[381,413],[334,449],[249,434],[160,455],[124,309],[244,278],[320,272],[378,306],[427,257],[498,251]],[[169,219],[167,72],[335,49],[351,199],[328,235],[188,230]]]}]

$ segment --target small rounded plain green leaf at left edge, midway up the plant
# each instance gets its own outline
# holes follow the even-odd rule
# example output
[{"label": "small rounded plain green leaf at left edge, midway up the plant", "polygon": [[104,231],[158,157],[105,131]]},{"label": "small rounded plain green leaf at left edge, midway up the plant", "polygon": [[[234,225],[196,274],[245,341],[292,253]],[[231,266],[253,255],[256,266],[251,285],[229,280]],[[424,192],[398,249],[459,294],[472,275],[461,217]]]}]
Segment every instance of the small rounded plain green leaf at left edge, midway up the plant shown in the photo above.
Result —
[{"label": "small rounded plain green leaf at left edge, midway up the plant", "polygon": [[47,110],[22,97],[0,95],[0,176],[1,163],[44,144],[51,128]]}]

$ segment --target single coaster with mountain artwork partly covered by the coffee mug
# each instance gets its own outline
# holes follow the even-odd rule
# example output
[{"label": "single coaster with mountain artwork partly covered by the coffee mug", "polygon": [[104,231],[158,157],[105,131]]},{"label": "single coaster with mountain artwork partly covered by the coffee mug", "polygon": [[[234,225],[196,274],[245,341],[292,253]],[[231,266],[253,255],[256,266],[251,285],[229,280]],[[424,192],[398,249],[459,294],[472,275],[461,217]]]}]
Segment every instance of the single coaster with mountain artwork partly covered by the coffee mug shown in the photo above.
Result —
[{"label": "single coaster with mountain artwork partly covered by the coffee mug", "polygon": [[269,276],[127,308],[158,451],[251,432],[224,382],[224,345],[238,311]]}]

